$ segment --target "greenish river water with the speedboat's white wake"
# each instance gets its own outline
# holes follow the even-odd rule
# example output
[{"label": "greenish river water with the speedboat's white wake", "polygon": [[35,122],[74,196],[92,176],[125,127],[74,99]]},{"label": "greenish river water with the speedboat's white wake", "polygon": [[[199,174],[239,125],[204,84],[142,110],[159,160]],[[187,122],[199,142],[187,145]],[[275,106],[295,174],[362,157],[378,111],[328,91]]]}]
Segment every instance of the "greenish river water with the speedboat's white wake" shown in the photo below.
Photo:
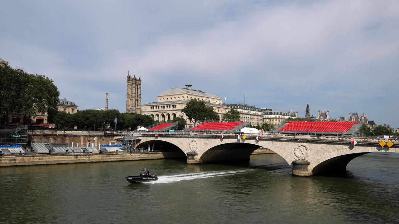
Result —
[{"label": "greenish river water with the speedboat's white wake", "polygon": [[[158,181],[124,179],[144,167]],[[399,223],[399,154],[362,155],[347,170],[295,177],[277,154],[0,167],[0,223]]]}]

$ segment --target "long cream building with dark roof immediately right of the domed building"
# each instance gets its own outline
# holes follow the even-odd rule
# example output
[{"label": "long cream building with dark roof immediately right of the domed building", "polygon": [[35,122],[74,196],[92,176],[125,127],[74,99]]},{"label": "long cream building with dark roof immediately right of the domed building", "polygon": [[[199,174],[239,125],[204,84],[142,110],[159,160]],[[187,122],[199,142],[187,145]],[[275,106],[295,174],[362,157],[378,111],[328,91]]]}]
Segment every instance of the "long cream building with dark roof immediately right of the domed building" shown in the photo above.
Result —
[{"label": "long cream building with dark roof immediately right of the domed building", "polygon": [[261,109],[247,104],[226,104],[227,107],[238,110],[240,113],[240,121],[249,122],[253,126],[261,126],[263,124],[263,113]]}]

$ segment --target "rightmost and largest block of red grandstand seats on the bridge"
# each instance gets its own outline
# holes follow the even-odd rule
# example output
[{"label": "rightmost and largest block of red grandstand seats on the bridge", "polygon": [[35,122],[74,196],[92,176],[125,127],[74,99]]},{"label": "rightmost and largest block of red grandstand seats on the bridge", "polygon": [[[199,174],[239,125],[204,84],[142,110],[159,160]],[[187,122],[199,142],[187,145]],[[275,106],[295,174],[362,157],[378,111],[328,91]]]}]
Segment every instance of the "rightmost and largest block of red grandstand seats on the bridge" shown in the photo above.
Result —
[{"label": "rightmost and largest block of red grandstand seats on the bridge", "polygon": [[359,122],[322,122],[322,121],[292,121],[280,129],[279,132],[348,132],[354,124]]}]

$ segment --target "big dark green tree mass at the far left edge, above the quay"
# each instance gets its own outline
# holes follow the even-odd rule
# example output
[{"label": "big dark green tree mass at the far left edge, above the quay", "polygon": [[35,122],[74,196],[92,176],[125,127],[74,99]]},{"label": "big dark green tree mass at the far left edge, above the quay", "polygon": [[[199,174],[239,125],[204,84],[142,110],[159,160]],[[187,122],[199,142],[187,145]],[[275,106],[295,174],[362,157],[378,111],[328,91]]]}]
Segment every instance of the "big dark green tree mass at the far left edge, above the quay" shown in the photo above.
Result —
[{"label": "big dark green tree mass at the far left edge, above the quay", "polygon": [[[59,92],[53,81],[43,75],[33,75],[8,65],[0,67],[0,110],[26,116],[43,115],[47,108],[55,108]],[[8,124],[8,119],[7,124]]]}]

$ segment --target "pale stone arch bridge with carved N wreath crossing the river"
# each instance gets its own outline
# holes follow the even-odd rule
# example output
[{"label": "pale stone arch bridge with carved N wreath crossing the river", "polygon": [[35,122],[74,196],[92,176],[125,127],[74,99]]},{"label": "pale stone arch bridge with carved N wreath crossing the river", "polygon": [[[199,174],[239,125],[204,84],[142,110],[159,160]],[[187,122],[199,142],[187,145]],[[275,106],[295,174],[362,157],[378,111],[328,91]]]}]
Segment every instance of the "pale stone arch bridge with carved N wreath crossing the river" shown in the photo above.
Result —
[{"label": "pale stone arch bridge with carved N wreath crossing the river", "polygon": [[[265,147],[280,155],[291,166],[292,174],[299,176],[345,172],[352,159],[370,152],[399,153],[399,139],[246,134],[243,140],[235,133],[158,133],[155,137],[154,133],[134,132],[133,136],[136,147],[172,144],[186,154],[187,163],[245,160],[255,149]],[[358,142],[355,146],[353,140]],[[380,141],[394,145],[381,147]]]}]

